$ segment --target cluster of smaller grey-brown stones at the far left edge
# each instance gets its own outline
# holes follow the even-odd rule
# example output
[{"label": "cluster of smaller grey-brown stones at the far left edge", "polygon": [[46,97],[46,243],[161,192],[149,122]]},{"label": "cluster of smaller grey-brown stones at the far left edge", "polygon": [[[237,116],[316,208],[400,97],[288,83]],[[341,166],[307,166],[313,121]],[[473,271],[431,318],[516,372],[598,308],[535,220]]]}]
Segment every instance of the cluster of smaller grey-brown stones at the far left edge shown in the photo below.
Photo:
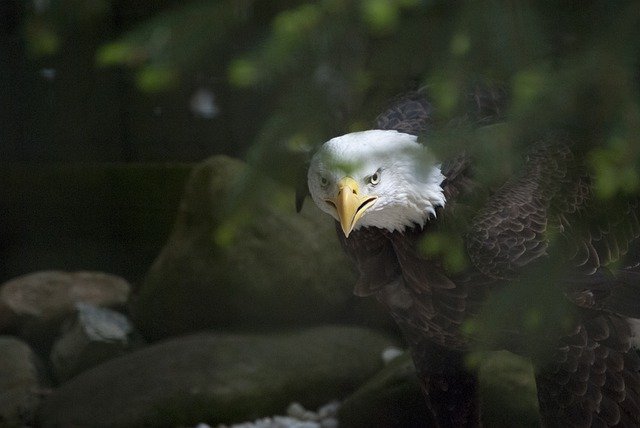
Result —
[{"label": "cluster of smaller grey-brown stones at the far left edge", "polygon": [[[125,319],[115,311],[124,310],[130,292],[127,281],[100,272],[43,271],[0,286],[0,425],[34,423],[42,399],[58,380],[109,355],[111,338],[94,335],[79,341],[74,330],[65,332],[63,326],[89,325],[99,311],[109,311],[113,319],[103,321],[103,329],[113,329],[113,320]],[[120,337],[123,352],[134,347],[131,332]],[[96,347],[101,351],[86,354]]]}]

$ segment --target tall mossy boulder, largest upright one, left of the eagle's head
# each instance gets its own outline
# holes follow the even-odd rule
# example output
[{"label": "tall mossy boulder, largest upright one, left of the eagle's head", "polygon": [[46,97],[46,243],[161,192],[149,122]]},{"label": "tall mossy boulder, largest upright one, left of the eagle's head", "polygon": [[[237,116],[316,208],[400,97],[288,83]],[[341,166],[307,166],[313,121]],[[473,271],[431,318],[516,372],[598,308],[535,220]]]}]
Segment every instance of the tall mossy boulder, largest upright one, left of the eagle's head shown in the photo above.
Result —
[{"label": "tall mossy boulder, largest upright one, left of the eagle's head", "polygon": [[[244,163],[216,156],[189,178],[173,233],[132,313],[150,339],[338,323],[377,308],[353,296],[354,283],[331,219],[312,203],[296,213],[292,189],[256,181]],[[389,323],[373,312],[378,325]]]}]

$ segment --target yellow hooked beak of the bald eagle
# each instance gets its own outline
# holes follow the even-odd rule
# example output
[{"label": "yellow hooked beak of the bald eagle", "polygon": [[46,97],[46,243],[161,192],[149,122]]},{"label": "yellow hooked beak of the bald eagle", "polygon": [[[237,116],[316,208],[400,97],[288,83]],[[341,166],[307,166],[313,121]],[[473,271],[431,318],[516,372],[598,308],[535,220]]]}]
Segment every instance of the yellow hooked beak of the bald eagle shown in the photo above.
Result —
[{"label": "yellow hooked beak of the bald eagle", "polygon": [[344,177],[338,181],[338,195],[325,200],[335,207],[344,236],[348,238],[358,220],[376,199],[377,196],[361,195],[358,183],[351,177]]}]

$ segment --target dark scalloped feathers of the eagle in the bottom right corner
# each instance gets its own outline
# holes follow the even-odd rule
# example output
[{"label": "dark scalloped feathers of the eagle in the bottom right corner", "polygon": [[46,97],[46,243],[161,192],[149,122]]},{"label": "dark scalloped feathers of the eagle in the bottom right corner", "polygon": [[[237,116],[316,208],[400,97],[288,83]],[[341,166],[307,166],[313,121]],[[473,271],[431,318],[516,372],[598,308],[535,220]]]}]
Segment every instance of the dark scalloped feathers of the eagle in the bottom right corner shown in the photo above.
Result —
[{"label": "dark scalloped feathers of the eagle in the bottom right corner", "polygon": [[538,367],[536,374],[546,425],[640,424],[640,358],[629,352],[629,336],[624,319],[599,314],[560,340],[574,344],[559,346],[553,362]]}]

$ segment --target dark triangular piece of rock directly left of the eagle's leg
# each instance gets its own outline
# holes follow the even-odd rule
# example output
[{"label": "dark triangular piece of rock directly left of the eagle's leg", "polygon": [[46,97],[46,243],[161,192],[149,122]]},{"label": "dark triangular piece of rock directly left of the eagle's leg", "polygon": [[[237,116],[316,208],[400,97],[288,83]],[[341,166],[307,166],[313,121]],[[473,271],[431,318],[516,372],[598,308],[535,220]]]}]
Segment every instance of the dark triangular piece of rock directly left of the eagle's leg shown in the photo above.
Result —
[{"label": "dark triangular piece of rock directly left of the eagle's leg", "polygon": [[413,360],[405,353],[342,402],[340,427],[435,426],[420,390]]}]

